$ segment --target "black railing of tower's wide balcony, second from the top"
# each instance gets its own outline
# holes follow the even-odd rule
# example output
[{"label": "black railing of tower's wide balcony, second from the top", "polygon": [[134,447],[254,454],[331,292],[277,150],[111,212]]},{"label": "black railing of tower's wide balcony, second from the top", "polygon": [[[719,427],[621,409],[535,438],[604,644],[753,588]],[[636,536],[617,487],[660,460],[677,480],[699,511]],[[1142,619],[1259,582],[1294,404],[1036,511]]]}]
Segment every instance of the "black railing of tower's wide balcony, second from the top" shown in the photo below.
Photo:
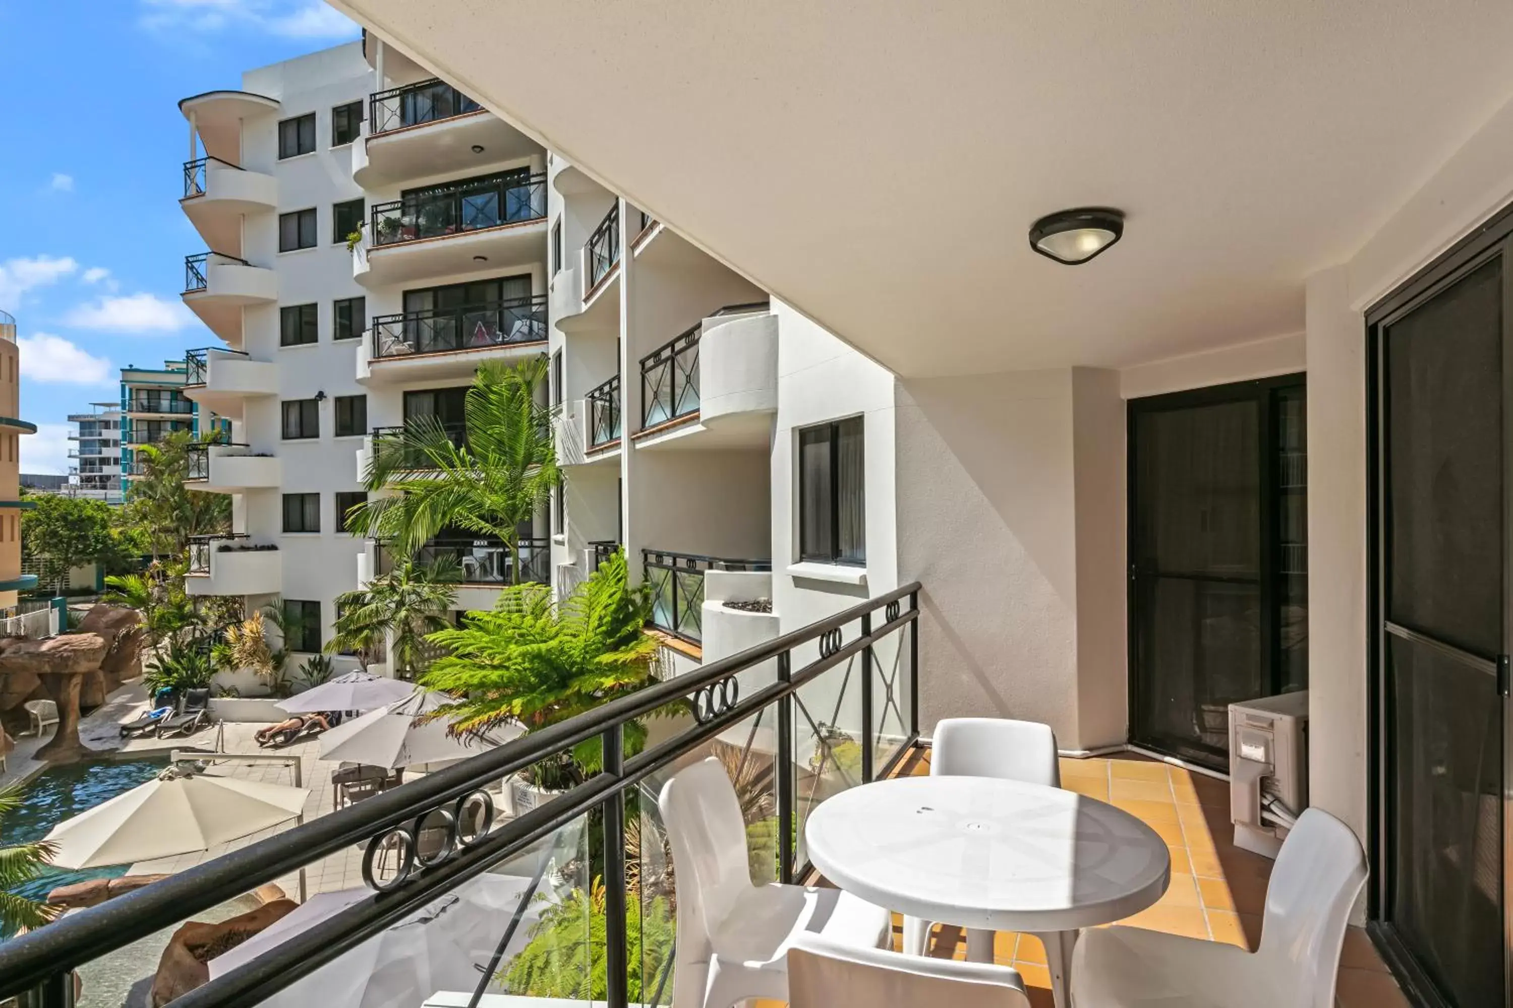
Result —
[{"label": "black railing of tower's wide balcony, second from the top", "polygon": [[381,248],[468,234],[546,218],[546,175],[496,175],[463,186],[437,186],[375,204],[369,243]]}]

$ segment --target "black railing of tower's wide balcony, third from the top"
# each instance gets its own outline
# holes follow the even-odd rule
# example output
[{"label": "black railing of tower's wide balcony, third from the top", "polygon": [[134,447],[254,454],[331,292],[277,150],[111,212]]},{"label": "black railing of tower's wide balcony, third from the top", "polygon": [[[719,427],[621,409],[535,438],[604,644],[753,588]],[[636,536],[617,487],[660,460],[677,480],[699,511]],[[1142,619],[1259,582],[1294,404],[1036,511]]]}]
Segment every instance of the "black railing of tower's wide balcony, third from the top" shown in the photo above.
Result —
[{"label": "black railing of tower's wide balcony, third from the top", "polygon": [[546,339],[546,296],[381,314],[372,329],[375,360],[539,343]]}]

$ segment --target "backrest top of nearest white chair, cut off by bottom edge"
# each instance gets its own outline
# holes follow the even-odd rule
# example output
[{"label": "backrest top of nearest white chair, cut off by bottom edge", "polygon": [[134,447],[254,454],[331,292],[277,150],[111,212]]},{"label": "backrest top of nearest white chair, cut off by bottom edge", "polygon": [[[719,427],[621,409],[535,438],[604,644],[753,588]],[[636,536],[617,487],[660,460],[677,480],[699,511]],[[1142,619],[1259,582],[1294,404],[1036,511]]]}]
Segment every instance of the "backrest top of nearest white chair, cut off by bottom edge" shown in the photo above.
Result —
[{"label": "backrest top of nearest white chair, cut off by bottom edge", "polygon": [[788,1006],[1029,1008],[1018,970],[887,949],[850,948],[803,934],[788,949]]}]

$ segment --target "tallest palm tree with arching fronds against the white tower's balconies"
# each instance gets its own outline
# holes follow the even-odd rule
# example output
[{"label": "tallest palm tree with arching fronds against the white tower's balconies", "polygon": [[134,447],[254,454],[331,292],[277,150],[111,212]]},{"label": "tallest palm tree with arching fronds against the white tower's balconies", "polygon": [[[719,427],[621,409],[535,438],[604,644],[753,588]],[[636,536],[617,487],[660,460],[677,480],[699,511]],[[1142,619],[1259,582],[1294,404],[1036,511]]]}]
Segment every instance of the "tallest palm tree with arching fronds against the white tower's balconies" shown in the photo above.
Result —
[{"label": "tallest palm tree with arching fronds against the white tower's balconies", "polygon": [[390,540],[401,556],[415,556],[448,527],[496,536],[510,552],[513,583],[520,583],[519,527],[546,506],[558,482],[551,408],[537,402],[545,378],[545,357],[480,367],[463,405],[463,444],[434,417],[412,419],[399,437],[381,438],[365,482],[389,493],[353,508],[350,523]]}]

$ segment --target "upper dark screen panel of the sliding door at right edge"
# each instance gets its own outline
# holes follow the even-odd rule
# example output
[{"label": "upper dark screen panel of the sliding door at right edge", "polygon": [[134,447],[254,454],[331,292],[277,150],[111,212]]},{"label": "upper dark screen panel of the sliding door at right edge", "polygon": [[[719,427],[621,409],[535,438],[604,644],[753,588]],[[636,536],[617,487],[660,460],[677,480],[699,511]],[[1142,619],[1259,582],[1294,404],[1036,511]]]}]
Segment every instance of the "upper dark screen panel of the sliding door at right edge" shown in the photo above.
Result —
[{"label": "upper dark screen panel of the sliding door at right edge", "polygon": [[1493,260],[1386,329],[1389,621],[1502,651],[1502,280]]}]

